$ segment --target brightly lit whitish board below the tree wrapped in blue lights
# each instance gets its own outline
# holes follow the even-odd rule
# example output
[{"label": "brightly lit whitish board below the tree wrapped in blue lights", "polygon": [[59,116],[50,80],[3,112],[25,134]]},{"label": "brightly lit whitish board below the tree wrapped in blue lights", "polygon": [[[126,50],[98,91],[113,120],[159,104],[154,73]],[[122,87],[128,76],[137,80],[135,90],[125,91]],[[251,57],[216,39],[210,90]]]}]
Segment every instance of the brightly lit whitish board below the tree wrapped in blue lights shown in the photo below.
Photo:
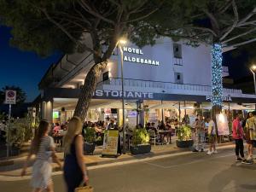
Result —
[{"label": "brightly lit whitish board below the tree wrapped in blue lights", "polygon": [[217,128],[219,136],[230,135],[227,115],[224,113],[216,114]]}]

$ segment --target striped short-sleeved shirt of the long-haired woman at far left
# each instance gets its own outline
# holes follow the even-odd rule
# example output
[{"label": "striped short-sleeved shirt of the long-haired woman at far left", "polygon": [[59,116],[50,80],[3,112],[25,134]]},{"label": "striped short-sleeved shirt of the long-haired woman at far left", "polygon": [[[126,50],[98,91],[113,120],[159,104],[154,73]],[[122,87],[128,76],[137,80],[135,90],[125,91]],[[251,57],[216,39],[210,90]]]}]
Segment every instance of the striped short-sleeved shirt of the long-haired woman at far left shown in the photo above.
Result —
[{"label": "striped short-sleeved shirt of the long-haired woman at far left", "polygon": [[55,148],[55,143],[52,137],[46,136],[42,138],[40,146],[38,148],[37,159],[38,160],[49,160],[52,151],[50,148]]}]

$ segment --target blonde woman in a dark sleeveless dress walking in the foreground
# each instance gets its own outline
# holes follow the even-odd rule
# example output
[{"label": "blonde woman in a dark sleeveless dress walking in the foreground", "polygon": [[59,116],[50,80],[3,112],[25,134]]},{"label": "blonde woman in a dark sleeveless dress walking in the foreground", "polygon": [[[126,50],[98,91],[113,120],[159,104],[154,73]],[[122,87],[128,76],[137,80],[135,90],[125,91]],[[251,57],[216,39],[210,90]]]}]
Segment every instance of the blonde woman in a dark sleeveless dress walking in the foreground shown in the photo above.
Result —
[{"label": "blonde woman in a dark sleeveless dress walking in the foreground", "polygon": [[74,116],[67,125],[67,134],[64,137],[64,179],[68,192],[74,192],[81,183],[87,184],[89,180],[84,164],[82,126],[81,119]]}]

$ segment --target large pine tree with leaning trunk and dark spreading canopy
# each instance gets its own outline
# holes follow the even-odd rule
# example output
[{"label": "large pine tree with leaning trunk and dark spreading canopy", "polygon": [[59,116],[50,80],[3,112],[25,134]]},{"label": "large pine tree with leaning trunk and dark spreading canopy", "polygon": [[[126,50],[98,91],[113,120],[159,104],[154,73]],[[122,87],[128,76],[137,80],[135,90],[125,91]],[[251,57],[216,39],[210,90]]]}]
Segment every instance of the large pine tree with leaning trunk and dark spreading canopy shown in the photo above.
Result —
[{"label": "large pine tree with leaning trunk and dark spreading canopy", "polygon": [[[13,28],[12,44],[20,49],[49,55],[64,53],[93,55],[95,65],[84,80],[75,115],[85,118],[90,97],[119,38],[140,36],[145,20],[165,0],[0,0],[2,22]],[[145,35],[145,34],[143,34]],[[143,36],[141,36],[143,37]],[[148,42],[154,43],[154,36]],[[143,39],[143,38],[142,38]]]}]

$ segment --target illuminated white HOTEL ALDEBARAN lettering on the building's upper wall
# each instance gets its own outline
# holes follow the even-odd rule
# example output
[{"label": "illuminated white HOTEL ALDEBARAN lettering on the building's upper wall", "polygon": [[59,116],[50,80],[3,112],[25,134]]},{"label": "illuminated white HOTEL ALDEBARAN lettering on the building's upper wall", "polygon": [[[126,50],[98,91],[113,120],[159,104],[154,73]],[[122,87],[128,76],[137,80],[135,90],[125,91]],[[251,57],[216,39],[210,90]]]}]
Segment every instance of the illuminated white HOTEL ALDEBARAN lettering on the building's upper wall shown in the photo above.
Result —
[{"label": "illuminated white HOTEL ALDEBARAN lettering on the building's upper wall", "polygon": [[[131,47],[123,47],[123,51],[126,52],[126,53],[131,53],[131,54],[136,54],[136,55],[143,55],[143,50],[142,49],[135,49],[135,48],[131,48]],[[146,65],[153,65],[153,66],[159,66],[160,65],[159,61],[144,59],[144,58],[138,57],[138,56],[124,55],[124,61],[137,62],[137,63],[146,64]]]}]

